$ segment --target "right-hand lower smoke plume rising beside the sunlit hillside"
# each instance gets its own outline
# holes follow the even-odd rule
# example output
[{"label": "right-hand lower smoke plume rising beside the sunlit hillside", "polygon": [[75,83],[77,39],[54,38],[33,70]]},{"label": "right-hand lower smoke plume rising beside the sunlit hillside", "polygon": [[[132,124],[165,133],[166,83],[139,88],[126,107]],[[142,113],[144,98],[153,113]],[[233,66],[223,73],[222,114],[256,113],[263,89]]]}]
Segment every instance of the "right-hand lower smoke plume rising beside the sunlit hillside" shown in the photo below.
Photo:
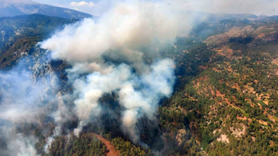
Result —
[{"label": "right-hand lower smoke plume rising beside the sunlit hillside", "polygon": [[[173,69],[172,60],[161,60],[152,65],[151,73],[139,78],[140,82],[131,80],[120,89],[120,104],[126,108],[123,112],[122,126],[134,141],[139,139],[139,132],[136,129],[138,119],[143,115],[146,115],[148,119],[154,119],[160,99],[172,94]],[[138,85],[143,87],[138,89]]]}]

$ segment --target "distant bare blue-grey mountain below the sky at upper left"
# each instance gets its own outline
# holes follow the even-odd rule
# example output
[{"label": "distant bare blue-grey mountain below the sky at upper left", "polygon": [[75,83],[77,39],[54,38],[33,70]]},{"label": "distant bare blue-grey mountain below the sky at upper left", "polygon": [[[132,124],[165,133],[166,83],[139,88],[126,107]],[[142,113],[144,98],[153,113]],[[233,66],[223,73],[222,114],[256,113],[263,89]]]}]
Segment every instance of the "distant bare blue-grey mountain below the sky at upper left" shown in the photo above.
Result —
[{"label": "distant bare blue-grey mountain below the sky at upper left", "polygon": [[0,17],[41,14],[65,19],[92,17],[84,12],[37,3],[31,0],[0,0]]}]

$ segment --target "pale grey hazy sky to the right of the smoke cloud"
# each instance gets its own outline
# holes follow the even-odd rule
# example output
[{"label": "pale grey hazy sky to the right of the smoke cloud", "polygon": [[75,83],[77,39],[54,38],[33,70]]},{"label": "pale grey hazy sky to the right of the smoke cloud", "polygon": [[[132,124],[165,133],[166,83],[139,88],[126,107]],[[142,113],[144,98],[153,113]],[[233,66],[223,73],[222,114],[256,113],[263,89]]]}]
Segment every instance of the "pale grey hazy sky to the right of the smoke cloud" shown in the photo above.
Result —
[{"label": "pale grey hazy sky to the right of the smoke cloud", "polygon": [[174,6],[178,6],[178,8],[210,13],[254,15],[278,14],[278,1],[276,0],[177,0],[168,2]]}]

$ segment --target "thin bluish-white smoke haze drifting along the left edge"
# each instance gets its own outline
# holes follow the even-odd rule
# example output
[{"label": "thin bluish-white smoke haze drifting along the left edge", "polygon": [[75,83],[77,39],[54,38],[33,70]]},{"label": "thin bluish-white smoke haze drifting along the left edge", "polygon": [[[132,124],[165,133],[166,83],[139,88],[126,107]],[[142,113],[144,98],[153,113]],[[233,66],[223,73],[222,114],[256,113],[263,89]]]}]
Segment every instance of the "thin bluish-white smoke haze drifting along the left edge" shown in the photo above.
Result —
[{"label": "thin bluish-white smoke haze drifting along the left edge", "polygon": [[29,125],[41,125],[49,103],[57,103],[55,78],[34,78],[24,61],[10,71],[0,72],[0,155],[36,155],[38,141]]}]

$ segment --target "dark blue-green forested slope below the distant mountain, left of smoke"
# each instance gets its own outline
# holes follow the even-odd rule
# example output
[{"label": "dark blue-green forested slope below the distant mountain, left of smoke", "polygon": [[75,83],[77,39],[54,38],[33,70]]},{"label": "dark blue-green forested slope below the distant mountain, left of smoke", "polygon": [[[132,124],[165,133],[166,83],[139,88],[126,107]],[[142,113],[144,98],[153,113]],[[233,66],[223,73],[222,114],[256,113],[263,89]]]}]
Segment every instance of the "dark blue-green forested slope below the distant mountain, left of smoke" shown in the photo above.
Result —
[{"label": "dark blue-green forested slope below the distant mountain, left of smoke", "polygon": [[13,65],[12,62],[31,53],[34,44],[75,21],[78,19],[38,14],[0,17],[0,69]]}]

